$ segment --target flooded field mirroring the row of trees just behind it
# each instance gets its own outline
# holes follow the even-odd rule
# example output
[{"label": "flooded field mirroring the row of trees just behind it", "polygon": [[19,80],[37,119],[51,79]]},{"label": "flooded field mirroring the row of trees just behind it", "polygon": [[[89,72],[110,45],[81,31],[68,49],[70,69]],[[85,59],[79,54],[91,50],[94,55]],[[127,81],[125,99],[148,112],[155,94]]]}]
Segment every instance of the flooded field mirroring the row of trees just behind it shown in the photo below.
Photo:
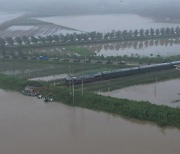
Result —
[{"label": "flooded field mirroring the row of trees just behind it", "polygon": [[86,45],[97,56],[157,57],[179,55],[180,39],[152,39]]}]

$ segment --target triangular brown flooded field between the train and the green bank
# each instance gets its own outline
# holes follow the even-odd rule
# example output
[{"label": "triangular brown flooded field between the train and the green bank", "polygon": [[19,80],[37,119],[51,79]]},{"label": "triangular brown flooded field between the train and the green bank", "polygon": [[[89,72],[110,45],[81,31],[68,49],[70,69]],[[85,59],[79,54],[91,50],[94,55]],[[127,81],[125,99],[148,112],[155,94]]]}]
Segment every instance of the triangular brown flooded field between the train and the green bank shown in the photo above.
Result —
[{"label": "triangular brown flooded field between the train and the green bank", "polygon": [[144,100],[158,105],[180,107],[180,79],[131,86],[102,94],[116,98]]}]

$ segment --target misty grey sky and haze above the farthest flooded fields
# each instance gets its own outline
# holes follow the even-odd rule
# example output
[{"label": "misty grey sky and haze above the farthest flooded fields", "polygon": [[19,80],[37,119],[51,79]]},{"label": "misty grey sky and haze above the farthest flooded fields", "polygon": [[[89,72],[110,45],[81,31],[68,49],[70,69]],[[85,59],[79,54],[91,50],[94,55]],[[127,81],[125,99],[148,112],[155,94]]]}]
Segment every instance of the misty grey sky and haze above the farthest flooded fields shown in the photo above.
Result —
[{"label": "misty grey sky and haze above the farthest flooded fields", "polygon": [[59,11],[60,13],[145,11],[166,15],[176,14],[179,11],[178,6],[180,0],[0,0],[0,11]]}]

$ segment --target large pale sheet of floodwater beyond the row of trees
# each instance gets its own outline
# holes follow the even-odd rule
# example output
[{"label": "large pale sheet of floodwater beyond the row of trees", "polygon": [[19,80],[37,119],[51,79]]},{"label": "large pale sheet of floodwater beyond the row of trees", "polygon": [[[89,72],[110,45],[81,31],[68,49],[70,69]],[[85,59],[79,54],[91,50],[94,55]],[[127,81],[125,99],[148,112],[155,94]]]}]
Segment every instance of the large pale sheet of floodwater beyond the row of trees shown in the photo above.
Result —
[{"label": "large pale sheet of floodwater beyond the row of trees", "polygon": [[154,22],[152,19],[140,17],[135,14],[53,16],[37,19],[85,32],[111,32],[113,29],[135,30],[141,28],[149,29],[151,27],[161,28],[177,26],[177,24]]}]

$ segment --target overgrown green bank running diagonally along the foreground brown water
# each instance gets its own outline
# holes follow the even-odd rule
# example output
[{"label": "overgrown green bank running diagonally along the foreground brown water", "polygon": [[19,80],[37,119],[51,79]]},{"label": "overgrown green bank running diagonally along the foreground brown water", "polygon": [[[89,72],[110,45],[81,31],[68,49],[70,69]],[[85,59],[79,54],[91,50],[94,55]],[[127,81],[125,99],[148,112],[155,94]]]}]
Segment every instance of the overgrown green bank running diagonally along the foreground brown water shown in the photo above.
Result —
[{"label": "overgrown green bank running diagonally along the foreground brown water", "polygon": [[180,128],[180,109],[167,106],[154,105],[144,101],[131,101],[97,95],[93,92],[84,93],[75,90],[73,99],[71,89],[66,87],[54,87],[43,83],[22,80],[19,78],[0,75],[0,88],[20,91],[27,85],[46,86],[43,94],[52,92],[57,102],[70,106],[78,106],[96,111],[103,111],[121,115],[127,118],[152,121],[160,126],[173,126]]}]

